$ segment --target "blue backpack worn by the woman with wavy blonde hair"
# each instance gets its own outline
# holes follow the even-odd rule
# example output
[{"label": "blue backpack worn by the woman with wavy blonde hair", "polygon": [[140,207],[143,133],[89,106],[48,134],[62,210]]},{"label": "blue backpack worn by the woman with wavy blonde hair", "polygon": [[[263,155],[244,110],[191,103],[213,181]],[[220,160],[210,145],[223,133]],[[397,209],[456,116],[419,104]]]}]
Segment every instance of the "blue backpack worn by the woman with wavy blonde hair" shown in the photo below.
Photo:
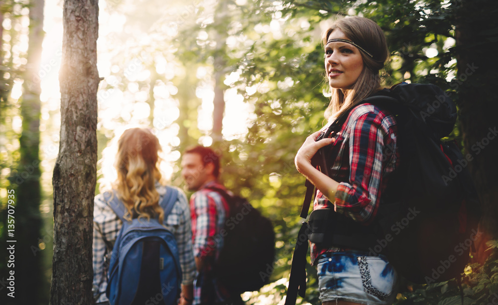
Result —
[{"label": "blue backpack worn by the woman with wavy blonde hair", "polygon": [[[110,194],[104,195],[110,199]],[[164,219],[173,209],[178,190],[167,187],[159,203]],[[177,304],[182,273],[173,233],[155,218],[124,219],[126,208],[115,195],[109,202],[123,221],[109,265],[106,295],[112,305]]]}]

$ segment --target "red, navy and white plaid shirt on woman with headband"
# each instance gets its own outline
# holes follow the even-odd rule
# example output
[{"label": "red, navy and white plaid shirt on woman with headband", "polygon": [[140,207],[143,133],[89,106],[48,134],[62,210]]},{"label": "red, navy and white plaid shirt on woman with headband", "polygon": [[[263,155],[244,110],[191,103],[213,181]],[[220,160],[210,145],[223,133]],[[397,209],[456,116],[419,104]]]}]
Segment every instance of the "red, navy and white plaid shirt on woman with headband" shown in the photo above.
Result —
[{"label": "red, navy and white plaid shirt on woman with headband", "polygon": [[[396,121],[389,112],[368,103],[354,108],[330,146],[334,161],[329,173],[340,183],[335,202],[329,202],[318,191],[313,209],[333,207],[336,212],[369,224],[377,211],[389,173],[399,162],[396,135]],[[310,245],[312,264],[324,253],[344,250]]]}]

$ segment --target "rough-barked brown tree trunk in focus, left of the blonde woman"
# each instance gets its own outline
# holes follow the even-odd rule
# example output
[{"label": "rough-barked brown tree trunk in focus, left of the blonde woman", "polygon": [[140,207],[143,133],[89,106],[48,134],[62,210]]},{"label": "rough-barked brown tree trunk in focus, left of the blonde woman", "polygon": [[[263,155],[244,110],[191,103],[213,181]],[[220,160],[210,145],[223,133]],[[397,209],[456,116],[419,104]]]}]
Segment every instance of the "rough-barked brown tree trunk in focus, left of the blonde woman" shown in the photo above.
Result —
[{"label": "rough-barked brown tree trunk in focus, left of the blonde woman", "polygon": [[61,132],[54,168],[50,304],[93,304],[92,234],[97,168],[97,0],[65,0]]}]

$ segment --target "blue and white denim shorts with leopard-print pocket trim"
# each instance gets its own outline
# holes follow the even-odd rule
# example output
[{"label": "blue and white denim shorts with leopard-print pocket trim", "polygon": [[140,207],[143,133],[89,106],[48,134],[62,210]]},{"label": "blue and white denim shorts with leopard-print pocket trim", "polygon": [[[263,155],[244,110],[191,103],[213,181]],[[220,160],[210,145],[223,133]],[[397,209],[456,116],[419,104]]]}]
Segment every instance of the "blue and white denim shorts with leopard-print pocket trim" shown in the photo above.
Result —
[{"label": "blue and white denim shorts with leopard-print pocket trim", "polygon": [[392,304],[397,273],[385,256],[368,252],[325,253],[318,258],[320,301],[347,301],[367,305]]}]

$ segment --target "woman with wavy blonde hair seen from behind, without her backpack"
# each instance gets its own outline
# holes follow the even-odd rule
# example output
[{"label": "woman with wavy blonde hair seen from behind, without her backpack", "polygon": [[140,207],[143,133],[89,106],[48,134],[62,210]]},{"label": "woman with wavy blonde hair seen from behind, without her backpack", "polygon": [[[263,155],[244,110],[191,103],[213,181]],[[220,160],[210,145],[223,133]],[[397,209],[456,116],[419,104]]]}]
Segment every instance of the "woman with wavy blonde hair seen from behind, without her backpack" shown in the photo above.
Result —
[{"label": "woman with wavy blonde hair seen from behind, without her backpack", "polygon": [[[112,193],[124,205],[125,219],[157,217],[159,223],[163,223],[173,233],[178,245],[183,274],[179,304],[191,304],[195,261],[189,205],[185,194],[178,190],[171,212],[164,217],[164,210],[159,202],[166,195],[167,188],[159,183],[161,173],[158,169],[158,152],[160,151],[159,141],[150,130],[144,128],[125,130],[118,141],[115,161],[118,178],[112,185]],[[109,198],[104,197],[104,194],[97,195],[93,232],[93,294],[97,304],[109,304],[106,297],[109,262],[106,257],[110,257],[109,254],[122,226],[123,222],[111,208]],[[151,296],[154,297],[157,296]],[[160,297],[162,298],[162,295]]]}]

